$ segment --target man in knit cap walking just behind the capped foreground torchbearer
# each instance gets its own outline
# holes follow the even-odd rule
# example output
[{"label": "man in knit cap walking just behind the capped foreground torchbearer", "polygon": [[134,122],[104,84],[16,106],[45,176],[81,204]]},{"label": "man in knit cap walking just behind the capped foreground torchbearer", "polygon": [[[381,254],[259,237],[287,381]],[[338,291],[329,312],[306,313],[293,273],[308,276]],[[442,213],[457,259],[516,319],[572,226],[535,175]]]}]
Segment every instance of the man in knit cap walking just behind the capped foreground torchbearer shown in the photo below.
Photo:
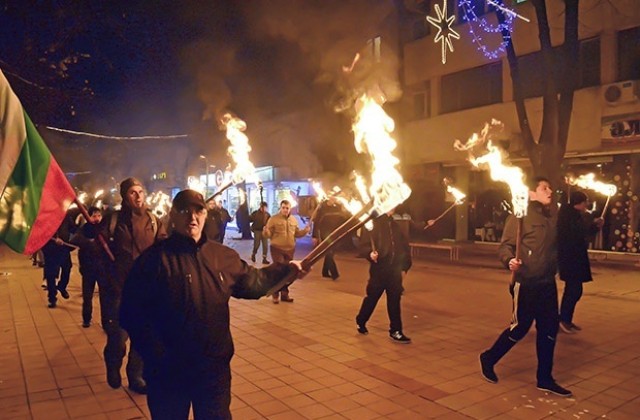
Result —
[{"label": "man in knit cap walking just behind the capped foreground torchbearer", "polygon": [[[127,178],[120,183],[122,209],[103,219],[103,234],[109,238],[115,262],[107,270],[105,290],[106,314],[102,314],[103,325],[107,333],[104,348],[104,361],[107,367],[107,382],[112,388],[122,383],[120,368],[126,353],[127,333],[120,328],[119,311],[122,286],[133,262],[142,252],[156,241],[167,236],[160,220],[147,208],[146,192],[136,178]],[[146,384],[142,378],[142,359],[129,350],[127,361],[127,379],[129,388],[139,394],[146,393]]]}]

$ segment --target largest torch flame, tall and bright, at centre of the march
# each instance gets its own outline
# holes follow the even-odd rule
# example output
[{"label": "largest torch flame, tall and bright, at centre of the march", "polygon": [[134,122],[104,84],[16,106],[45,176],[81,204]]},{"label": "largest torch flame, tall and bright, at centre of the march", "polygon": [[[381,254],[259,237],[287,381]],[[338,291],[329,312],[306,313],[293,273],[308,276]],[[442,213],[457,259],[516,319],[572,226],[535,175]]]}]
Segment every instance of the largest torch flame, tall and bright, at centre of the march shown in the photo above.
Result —
[{"label": "largest torch flame, tall and bright, at centre of the march", "polygon": [[359,191],[367,201],[369,196],[373,197],[379,214],[393,210],[411,195],[411,189],[396,169],[400,161],[392,154],[396,142],[390,134],[395,124],[382,108],[384,101],[381,94],[378,98],[362,95],[356,101],[357,115],[353,123],[356,150],[367,153],[372,161],[368,194],[366,189],[359,188]]}]

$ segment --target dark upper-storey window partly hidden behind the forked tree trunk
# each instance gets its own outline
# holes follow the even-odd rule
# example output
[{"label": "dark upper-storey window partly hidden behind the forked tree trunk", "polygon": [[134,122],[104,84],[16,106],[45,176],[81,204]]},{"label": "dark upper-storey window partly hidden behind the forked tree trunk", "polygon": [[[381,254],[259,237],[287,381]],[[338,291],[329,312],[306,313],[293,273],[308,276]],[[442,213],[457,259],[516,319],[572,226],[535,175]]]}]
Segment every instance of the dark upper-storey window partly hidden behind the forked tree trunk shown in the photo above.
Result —
[{"label": "dark upper-storey window partly hidden behind the forked tree trunk", "polygon": [[[553,49],[554,59],[560,62],[565,55],[562,46]],[[600,84],[600,38],[580,41],[578,52],[578,74],[576,89]],[[571,65],[571,64],[570,64]],[[542,63],[542,52],[523,55],[518,58],[520,81],[524,98],[535,98],[544,94],[545,74]],[[562,74],[560,66],[553,68],[554,78],[560,83]]]}]

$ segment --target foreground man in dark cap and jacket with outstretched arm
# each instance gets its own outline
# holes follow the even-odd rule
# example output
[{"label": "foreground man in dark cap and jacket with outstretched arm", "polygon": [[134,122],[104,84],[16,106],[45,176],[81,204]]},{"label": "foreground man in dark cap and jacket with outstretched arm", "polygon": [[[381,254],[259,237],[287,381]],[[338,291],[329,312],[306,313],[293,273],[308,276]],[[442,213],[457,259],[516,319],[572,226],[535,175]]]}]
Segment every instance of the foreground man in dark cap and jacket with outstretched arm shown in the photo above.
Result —
[{"label": "foreground man in dark cap and jacket with outstretched arm", "polygon": [[170,212],[171,236],[138,258],[127,277],[120,319],[144,360],[151,416],[230,419],[233,341],[229,298],[258,299],[300,263],[250,266],[203,233],[202,195],[184,190]]}]

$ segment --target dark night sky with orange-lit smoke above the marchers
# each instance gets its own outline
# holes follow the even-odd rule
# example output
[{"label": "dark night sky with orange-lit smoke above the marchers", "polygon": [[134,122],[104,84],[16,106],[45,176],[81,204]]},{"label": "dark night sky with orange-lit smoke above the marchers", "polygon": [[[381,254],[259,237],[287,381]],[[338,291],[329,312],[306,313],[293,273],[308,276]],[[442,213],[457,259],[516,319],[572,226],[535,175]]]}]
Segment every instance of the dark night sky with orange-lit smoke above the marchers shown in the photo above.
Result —
[{"label": "dark night sky with orange-lit smoke above the marchers", "polygon": [[[348,116],[333,110],[340,69],[392,12],[382,0],[9,1],[0,9],[0,68],[47,142],[94,157],[121,157],[123,142],[42,127],[189,134],[156,148],[169,162],[177,148],[187,160],[205,153],[224,163],[217,120],[231,111],[247,122],[256,165],[270,163],[270,136],[279,136],[317,160],[306,165],[339,172],[353,148]],[[165,158],[159,151],[154,159]]]}]

